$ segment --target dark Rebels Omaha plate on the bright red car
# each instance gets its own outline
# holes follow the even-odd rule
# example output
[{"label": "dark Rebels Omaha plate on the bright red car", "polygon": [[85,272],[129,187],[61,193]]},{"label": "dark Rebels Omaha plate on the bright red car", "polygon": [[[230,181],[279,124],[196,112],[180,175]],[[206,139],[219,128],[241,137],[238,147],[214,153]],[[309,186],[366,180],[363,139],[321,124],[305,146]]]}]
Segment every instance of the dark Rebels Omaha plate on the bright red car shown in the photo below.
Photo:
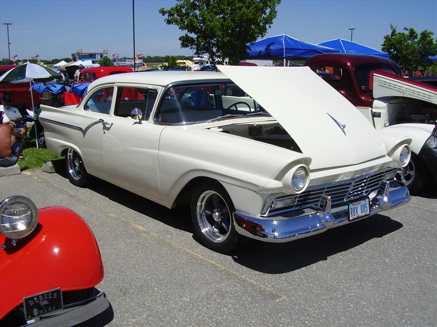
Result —
[{"label": "dark Rebels Omaha plate on the bright red car", "polygon": [[23,298],[23,304],[26,320],[61,310],[63,308],[61,288],[27,296]]}]

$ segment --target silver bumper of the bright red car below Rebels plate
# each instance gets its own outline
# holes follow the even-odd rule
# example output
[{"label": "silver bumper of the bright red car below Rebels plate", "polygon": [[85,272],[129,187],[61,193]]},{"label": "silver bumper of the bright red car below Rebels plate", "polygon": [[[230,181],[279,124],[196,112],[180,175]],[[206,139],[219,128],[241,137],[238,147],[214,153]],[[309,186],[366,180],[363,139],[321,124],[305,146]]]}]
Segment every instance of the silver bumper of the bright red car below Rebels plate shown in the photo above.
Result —
[{"label": "silver bumper of the bright red car below Rebels plate", "polygon": [[[65,308],[68,307],[68,308]],[[73,326],[97,316],[109,308],[109,300],[105,293],[87,300],[72,303],[63,310],[53,311],[51,315],[36,317],[27,322],[32,326]]]}]

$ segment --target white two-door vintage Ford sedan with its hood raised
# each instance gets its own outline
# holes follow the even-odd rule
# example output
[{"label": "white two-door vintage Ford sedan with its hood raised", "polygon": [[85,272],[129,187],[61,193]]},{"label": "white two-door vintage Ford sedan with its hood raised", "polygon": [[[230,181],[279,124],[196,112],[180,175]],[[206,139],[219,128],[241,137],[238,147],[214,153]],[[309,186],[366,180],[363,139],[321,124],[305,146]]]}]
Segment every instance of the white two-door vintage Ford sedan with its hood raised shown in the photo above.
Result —
[{"label": "white two-door vintage Ford sedan with its hood raised", "polygon": [[410,139],[375,130],[308,67],[221,66],[100,78],[79,106],[41,106],[71,183],[94,175],[170,208],[202,243],[286,242],[409,201]]}]

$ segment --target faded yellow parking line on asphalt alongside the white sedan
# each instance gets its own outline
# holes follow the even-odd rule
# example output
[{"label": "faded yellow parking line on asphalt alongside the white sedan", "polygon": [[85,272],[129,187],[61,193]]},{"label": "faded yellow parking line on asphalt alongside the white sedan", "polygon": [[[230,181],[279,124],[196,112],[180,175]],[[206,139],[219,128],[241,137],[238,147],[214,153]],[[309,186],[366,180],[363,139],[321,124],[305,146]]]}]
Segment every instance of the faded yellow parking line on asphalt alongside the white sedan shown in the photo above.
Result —
[{"label": "faded yellow parking line on asphalt alongside the white sedan", "polygon": [[126,218],[118,217],[116,214],[114,214],[114,213],[112,213],[112,212],[109,213],[108,216],[111,217],[111,218],[118,218],[118,219],[121,219],[121,220],[127,222],[131,227],[137,229],[138,231],[146,232],[147,234],[146,234],[146,233],[142,233],[143,236],[146,236],[146,237],[153,236],[153,237],[155,237],[155,238],[157,238],[157,239],[160,239],[160,240],[166,241],[167,243],[171,244],[173,247],[175,247],[175,248],[177,248],[177,249],[181,249],[181,250],[183,250],[183,251],[185,251],[185,252],[188,252],[189,254],[191,254],[191,255],[193,255],[193,256],[195,256],[195,257],[197,257],[197,258],[199,258],[199,259],[201,259],[201,260],[203,260],[203,261],[206,261],[207,263],[209,263],[209,264],[211,264],[211,265],[215,265],[215,266],[218,267],[219,269],[225,270],[225,271],[227,271],[227,272],[229,272],[229,273],[235,275],[236,277],[238,277],[238,278],[240,278],[240,279],[242,279],[242,280],[245,280],[245,281],[247,281],[247,282],[249,282],[249,283],[251,283],[251,284],[253,284],[253,285],[255,285],[255,286],[259,287],[259,288],[262,288],[263,290],[265,290],[265,291],[267,291],[267,292],[273,294],[274,296],[277,296],[277,298],[275,299],[275,302],[281,302],[282,300],[285,300],[285,299],[286,299],[286,296],[285,296],[285,295],[282,295],[282,294],[280,294],[280,293],[278,293],[278,292],[272,290],[271,288],[269,288],[269,287],[267,287],[267,286],[265,286],[265,285],[262,285],[262,284],[258,283],[258,282],[255,281],[255,280],[251,280],[250,278],[248,278],[248,277],[246,277],[246,276],[244,276],[244,275],[242,275],[242,274],[240,274],[240,273],[238,273],[238,272],[236,272],[236,271],[234,271],[234,270],[228,269],[228,268],[226,268],[225,266],[220,265],[220,264],[216,263],[215,261],[213,261],[213,260],[211,260],[211,259],[208,259],[208,258],[206,258],[206,257],[204,257],[204,256],[202,256],[202,255],[200,255],[200,254],[198,254],[198,253],[196,253],[196,252],[193,252],[193,251],[191,251],[191,250],[189,250],[189,249],[186,249],[186,248],[184,248],[183,246],[181,246],[180,244],[177,244],[177,243],[175,243],[175,242],[173,242],[173,241],[171,241],[171,240],[169,240],[169,239],[167,239],[167,238],[165,238],[165,237],[163,237],[163,236],[161,236],[161,235],[155,234],[155,233],[153,233],[153,232],[147,230],[146,228],[144,228],[144,227],[142,227],[142,226],[139,226],[139,225],[133,223],[132,221],[130,221],[130,220],[126,219]]}]

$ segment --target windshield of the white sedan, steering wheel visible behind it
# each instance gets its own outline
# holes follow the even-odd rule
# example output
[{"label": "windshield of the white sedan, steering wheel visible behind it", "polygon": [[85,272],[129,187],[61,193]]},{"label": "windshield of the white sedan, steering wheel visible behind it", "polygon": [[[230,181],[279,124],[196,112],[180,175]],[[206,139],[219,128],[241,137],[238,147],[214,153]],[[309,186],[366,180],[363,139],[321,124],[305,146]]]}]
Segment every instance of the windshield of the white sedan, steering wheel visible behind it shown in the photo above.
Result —
[{"label": "windshield of the white sedan, steering wheel visible behind it", "polygon": [[164,94],[155,121],[161,124],[192,124],[268,115],[235,83],[176,85]]}]

